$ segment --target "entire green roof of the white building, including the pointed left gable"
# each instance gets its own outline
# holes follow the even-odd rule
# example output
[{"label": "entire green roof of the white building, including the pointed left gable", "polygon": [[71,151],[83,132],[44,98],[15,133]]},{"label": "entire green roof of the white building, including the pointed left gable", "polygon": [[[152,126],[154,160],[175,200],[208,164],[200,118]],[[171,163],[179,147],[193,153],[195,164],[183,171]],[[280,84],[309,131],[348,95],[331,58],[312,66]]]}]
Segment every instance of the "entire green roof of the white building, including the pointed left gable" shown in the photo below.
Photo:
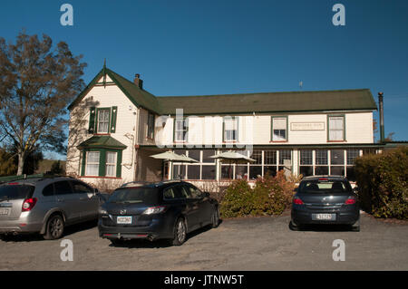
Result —
[{"label": "entire green roof of the white building, including the pointed left gable", "polygon": [[133,104],[158,114],[175,114],[176,109],[183,109],[185,115],[377,110],[369,89],[156,97],[105,67],[68,106],[69,110],[83,99],[104,73]]}]

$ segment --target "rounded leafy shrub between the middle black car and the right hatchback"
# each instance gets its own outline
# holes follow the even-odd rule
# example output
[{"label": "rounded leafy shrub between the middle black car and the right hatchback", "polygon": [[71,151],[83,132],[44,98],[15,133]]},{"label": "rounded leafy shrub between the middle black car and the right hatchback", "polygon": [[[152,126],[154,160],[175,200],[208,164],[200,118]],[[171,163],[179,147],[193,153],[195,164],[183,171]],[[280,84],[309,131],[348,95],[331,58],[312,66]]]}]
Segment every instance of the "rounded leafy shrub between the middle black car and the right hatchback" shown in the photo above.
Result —
[{"label": "rounded leafy shrub between the middle black car and the right hatchback", "polygon": [[221,202],[221,217],[281,215],[290,208],[297,178],[286,178],[283,171],[276,177],[257,178],[250,188],[246,179],[235,180]]}]

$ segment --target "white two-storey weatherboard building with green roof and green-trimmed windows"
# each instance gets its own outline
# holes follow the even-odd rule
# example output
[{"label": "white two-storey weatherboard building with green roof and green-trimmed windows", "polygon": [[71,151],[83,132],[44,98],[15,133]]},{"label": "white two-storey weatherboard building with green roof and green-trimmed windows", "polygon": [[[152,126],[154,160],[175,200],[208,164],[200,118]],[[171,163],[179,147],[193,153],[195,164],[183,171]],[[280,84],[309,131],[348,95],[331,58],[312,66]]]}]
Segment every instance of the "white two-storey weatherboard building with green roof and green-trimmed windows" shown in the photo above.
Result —
[{"label": "white two-storey weatherboard building with green roof and green-trimmed windows", "polygon": [[[101,179],[194,182],[255,179],[287,168],[293,174],[344,175],[354,180],[354,159],[374,143],[368,89],[154,96],[103,67],[69,106],[67,173]],[[182,114],[181,114],[182,113]],[[238,150],[253,163],[222,163],[209,156]],[[163,162],[166,150],[197,163]]]}]

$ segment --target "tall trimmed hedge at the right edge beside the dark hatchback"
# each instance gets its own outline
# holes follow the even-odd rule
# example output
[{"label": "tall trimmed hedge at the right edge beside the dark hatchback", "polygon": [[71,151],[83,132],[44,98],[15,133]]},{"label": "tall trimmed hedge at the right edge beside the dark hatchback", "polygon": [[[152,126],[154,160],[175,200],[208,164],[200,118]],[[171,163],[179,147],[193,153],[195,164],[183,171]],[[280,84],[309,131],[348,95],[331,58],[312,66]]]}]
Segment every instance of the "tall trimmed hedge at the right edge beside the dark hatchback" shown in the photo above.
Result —
[{"label": "tall trimmed hedge at the right edge beside the dark hatchback", "polygon": [[408,219],[408,147],[355,159],[355,177],[367,213]]}]

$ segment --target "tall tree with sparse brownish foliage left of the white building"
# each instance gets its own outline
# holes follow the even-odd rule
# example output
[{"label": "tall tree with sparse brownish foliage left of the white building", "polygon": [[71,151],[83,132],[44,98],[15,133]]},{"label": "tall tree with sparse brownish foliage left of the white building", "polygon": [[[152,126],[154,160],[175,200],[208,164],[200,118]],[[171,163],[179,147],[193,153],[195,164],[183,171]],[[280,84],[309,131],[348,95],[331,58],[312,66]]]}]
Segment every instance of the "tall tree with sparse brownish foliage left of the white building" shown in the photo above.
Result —
[{"label": "tall tree with sparse brownish foliage left of the white building", "polygon": [[0,38],[0,135],[16,145],[18,175],[31,152],[65,150],[65,108],[83,91],[82,57],[67,43],[53,47],[45,34],[22,32],[15,43]]}]

